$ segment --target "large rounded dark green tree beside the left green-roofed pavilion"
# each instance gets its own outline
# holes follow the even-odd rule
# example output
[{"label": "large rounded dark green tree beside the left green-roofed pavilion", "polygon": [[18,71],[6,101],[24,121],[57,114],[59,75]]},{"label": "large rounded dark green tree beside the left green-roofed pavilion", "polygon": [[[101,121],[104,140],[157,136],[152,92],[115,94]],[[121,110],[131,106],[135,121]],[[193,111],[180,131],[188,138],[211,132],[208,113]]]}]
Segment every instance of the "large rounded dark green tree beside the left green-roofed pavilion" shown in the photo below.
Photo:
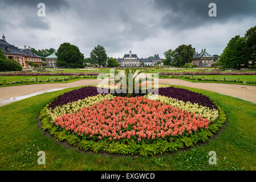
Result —
[{"label": "large rounded dark green tree beside the left green-roofed pavilion", "polygon": [[56,56],[58,56],[56,65],[63,68],[83,68],[84,55],[77,46],[70,43],[60,44]]}]

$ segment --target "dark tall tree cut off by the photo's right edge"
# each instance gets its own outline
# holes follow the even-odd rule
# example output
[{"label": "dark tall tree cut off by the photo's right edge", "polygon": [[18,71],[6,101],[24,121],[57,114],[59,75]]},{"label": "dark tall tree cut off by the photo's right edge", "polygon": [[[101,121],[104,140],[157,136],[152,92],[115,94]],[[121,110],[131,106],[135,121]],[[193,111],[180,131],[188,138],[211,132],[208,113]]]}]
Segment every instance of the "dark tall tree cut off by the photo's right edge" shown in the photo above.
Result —
[{"label": "dark tall tree cut off by the photo's right edge", "polygon": [[251,61],[251,66],[255,66],[256,63],[256,26],[251,27],[245,34],[246,58]]}]

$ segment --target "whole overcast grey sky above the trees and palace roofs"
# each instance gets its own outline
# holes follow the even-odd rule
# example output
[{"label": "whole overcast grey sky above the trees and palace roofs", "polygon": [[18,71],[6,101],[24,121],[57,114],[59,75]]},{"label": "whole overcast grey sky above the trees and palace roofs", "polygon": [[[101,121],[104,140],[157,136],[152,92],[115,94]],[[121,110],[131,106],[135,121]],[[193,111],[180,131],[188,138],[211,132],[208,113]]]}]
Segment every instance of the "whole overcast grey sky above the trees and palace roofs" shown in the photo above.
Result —
[{"label": "whole overcast grey sky above the trees and palace roofs", "polygon": [[[39,2],[45,17],[37,15]],[[211,2],[217,17],[208,15]],[[0,10],[0,32],[10,44],[58,49],[70,42],[85,57],[97,44],[109,57],[131,50],[163,58],[181,44],[220,54],[230,38],[256,25],[255,0],[0,0]]]}]

